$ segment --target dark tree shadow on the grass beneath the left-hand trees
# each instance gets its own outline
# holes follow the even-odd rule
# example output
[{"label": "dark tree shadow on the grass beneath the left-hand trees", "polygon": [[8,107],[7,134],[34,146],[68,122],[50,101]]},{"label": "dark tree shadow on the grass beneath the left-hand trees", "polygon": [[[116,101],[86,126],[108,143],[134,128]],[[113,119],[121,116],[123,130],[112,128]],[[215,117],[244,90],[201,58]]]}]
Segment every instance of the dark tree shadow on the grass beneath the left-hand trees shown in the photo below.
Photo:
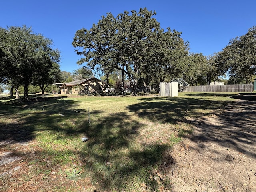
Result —
[{"label": "dark tree shadow on the grass beneath the left-hand trees", "polygon": [[[73,110],[73,100],[64,102],[66,97],[30,97],[0,102],[0,144],[28,142],[33,140],[38,130],[64,132],[67,135],[79,134],[82,130],[74,129],[77,120],[84,119],[86,110]],[[98,113],[95,111],[94,113]],[[60,126],[59,122],[70,119]],[[72,122],[74,121],[74,122]]]}]

